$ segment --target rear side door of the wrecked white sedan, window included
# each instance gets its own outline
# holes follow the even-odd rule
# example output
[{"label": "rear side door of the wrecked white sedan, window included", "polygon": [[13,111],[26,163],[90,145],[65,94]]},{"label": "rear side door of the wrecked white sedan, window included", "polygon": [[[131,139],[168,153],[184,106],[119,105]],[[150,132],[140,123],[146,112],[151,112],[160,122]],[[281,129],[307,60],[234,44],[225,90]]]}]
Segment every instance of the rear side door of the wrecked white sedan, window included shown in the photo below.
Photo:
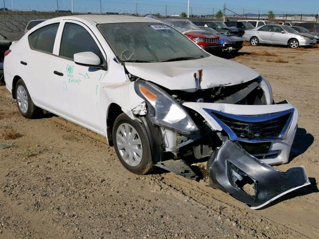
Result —
[{"label": "rear side door of the wrecked white sedan, window included", "polygon": [[48,107],[50,91],[50,67],[53,56],[56,34],[60,22],[52,22],[28,35],[29,49],[21,52],[22,79],[24,80],[33,102]]}]

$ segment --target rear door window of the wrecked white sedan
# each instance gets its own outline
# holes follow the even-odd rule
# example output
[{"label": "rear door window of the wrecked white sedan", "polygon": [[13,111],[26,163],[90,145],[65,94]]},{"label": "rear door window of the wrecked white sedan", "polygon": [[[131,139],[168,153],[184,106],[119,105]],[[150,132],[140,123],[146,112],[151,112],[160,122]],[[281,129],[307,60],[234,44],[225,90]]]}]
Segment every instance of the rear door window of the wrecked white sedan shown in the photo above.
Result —
[{"label": "rear door window of the wrecked white sedan", "polygon": [[30,35],[28,35],[30,47],[36,50],[52,53],[58,27],[59,23],[54,23],[43,26],[32,32]]}]

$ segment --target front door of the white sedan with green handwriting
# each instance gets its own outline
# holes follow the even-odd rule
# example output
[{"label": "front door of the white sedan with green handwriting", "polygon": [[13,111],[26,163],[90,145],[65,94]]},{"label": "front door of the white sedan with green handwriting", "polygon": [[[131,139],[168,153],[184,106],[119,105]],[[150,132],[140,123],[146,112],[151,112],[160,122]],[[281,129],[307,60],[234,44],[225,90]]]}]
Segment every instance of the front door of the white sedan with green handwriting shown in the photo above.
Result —
[{"label": "front door of the white sedan with green handwriting", "polygon": [[102,131],[100,123],[100,85],[106,70],[78,65],[73,56],[93,52],[105,62],[106,55],[92,31],[77,21],[64,21],[59,56],[52,62],[52,108],[61,116],[94,131]]}]

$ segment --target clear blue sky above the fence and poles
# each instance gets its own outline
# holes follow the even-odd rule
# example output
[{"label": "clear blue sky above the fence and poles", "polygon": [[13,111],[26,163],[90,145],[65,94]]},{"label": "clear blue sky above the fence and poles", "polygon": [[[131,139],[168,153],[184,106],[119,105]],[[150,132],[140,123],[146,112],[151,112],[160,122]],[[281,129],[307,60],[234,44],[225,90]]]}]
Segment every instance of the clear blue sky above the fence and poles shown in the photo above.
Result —
[{"label": "clear blue sky above the fence and poles", "polygon": [[[5,7],[16,10],[47,10],[71,9],[72,0],[4,0]],[[140,14],[157,13],[179,14],[187,11],[187,0],[102,0],[103,12],[131,12],[137,9]],[[319,13],[319,0],[190,0],[193,14],[212,14],[226,3],[226,8],[243,13]],[[73,0],[74,10],[77,12],[99,12],[100,0]],[[3,7],[3,0],[0,0]],[[228,12],[230,14],[230,12]],[[226,12],[227,14],[227,12]]]}]

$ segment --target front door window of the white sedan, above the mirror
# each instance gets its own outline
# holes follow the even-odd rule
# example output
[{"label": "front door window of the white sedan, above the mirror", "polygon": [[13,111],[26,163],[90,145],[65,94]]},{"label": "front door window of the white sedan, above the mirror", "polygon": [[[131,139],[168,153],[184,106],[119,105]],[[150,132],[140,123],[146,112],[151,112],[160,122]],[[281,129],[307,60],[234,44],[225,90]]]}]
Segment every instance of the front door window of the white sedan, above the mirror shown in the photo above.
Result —
[{"label": "front door window of the white sedan, above the mirror", "polygon": [[103,58],[99,47],[84,27],[75,23],[65,23],[60,45],[60,56],[73,59],[75,53],[85,51],[91,51],[101,59]]}]

